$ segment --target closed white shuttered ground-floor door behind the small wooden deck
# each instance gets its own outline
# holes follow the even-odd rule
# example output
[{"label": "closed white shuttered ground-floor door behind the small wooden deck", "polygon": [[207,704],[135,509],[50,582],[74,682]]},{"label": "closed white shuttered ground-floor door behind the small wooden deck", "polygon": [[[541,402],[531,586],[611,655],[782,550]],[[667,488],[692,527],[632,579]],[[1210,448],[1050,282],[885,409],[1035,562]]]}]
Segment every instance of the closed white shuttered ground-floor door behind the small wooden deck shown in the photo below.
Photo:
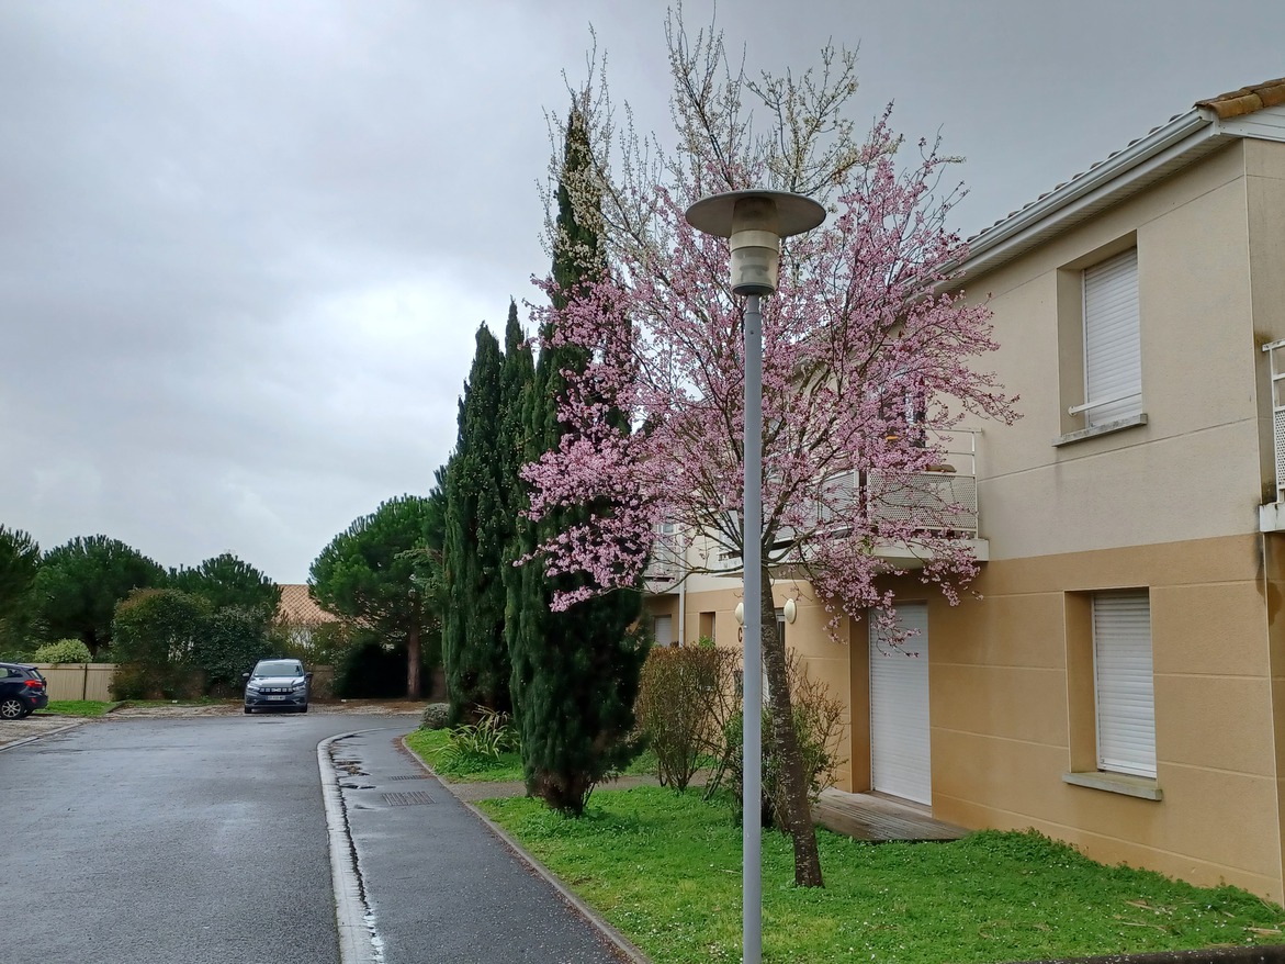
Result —
[{"label": "closed white shuttered ground-floor door behind the small wooden deck", "polygon": [[900,648],[870,632],[870,781],[874,789],[933,802],[928,727],[928,607],[906,603],[897,618],[917,636]]}]

